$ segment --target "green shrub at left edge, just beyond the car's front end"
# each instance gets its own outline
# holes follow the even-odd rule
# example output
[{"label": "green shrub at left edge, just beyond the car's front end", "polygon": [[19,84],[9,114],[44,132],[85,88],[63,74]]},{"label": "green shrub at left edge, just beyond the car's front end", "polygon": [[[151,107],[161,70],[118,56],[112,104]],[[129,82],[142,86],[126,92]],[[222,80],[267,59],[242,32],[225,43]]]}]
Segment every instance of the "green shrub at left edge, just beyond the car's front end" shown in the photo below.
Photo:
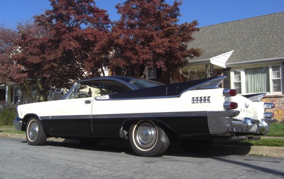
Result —
[{"label": "green shrub at left edge, just beyond the car's front end", "polygon": [[0,103],[0,126],[13,125],[13,120],[17,116],[15,105]]}]

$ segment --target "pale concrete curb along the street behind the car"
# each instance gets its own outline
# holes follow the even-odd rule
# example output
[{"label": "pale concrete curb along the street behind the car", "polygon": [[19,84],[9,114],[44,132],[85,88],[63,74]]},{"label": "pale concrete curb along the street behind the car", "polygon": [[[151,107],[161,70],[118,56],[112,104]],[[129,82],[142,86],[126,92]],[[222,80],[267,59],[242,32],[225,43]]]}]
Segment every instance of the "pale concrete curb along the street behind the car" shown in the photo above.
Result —
[{"label": "pale concrete curb along the street behind the car", "polygon": [[[0,133],[0,137],[10,137],[25,140],[25,134]],[[76,143],[77,140],[50,137],[47,141]],[[222,155],[249,155],[262,157],[284,157],[284,147],[266,147],[266,146],[240,146],[240,145],[213,145],[208,151],[210,154]]]}]

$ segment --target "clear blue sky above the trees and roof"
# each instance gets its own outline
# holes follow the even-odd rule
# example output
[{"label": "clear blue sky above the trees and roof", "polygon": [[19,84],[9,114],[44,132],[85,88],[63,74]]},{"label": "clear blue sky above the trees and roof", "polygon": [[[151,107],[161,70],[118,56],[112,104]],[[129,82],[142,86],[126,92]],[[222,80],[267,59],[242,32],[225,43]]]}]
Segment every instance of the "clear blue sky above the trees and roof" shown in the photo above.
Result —
[{"label": "clear blue sky above the trees and roof", "polygon": [[[115,5],[124,0],[95,0],[112,21],[119,15]],[[174,0],[166,0],[172,4]],[[15,28],[17,22],[32,20],[34,15],[51,9],[48,0],[0,0],[0,24]],[[231,22],[284,11],[284,0],[183,0],[180,23],[197,20],[199,27]]]}]

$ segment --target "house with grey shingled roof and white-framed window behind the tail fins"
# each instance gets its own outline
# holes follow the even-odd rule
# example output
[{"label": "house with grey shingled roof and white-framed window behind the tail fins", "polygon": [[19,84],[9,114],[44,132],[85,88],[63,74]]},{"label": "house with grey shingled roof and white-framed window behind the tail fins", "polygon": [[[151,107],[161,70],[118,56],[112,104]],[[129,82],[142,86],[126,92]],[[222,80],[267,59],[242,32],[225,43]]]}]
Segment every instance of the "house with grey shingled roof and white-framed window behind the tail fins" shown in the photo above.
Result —
[{"label": "house with grey shingled roof and white-framed window behind the tail fins", "polygon": [[175,82],[226,75],[224,88],[239,94],[266,92],[284,118],[284,12],[201,27],[189,47],[204,50],[189,59]]}]

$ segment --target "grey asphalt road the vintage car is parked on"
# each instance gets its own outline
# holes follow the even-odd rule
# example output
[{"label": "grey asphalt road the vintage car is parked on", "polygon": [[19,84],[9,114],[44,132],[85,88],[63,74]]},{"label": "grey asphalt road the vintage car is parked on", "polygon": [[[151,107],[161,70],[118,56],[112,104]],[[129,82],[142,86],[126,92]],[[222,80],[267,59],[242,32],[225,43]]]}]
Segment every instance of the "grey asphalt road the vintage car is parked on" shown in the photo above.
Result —
[{"label": "grey asphalt road the vintage car is parked on", "polygon": [[87,148],[0,137],[0,179],[283,179],[284,158],[188,155],[174,146],[163,157],[138,157],[106,141]]}]

